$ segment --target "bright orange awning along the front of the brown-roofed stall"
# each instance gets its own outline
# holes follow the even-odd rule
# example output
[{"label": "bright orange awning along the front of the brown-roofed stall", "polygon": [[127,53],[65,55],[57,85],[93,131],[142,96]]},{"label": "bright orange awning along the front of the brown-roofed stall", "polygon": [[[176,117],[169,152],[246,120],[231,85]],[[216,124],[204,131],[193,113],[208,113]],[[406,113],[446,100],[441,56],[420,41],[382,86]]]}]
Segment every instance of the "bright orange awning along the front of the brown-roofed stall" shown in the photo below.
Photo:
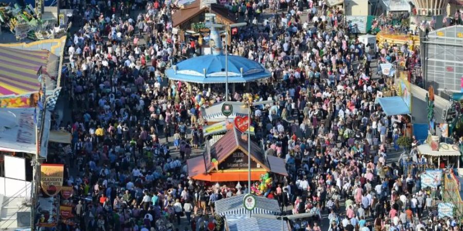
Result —
[{"label": "bright orange awning along the front of the brown-roofed stall", "polygon": [[[189,170],[188,165],[188,172]],[[262,174],[266,171],[251,171],[251,181],[260,180]],[[188,173],[189,174],[189,173]],[[227,171],[227,172],[210,172],[209,174],[199,174],[191,177],[194,180],[210,181],[210,182],[225,182],[225,181],[247,181],[247,171]]]}]

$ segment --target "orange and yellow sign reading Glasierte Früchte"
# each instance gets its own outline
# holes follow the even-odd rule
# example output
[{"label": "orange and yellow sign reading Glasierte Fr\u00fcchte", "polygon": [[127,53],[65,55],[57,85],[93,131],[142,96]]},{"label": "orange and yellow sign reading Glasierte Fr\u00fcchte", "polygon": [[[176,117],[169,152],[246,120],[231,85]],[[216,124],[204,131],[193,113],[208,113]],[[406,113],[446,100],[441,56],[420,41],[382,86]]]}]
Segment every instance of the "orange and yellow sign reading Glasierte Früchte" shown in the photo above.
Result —
[{"label": "orange and yellow sign reading Glasierte Fr\u00fcchte", "polygon": [[46,195],[52,197],[60,192],[63,186],[64,165],[42,164],[40,166],[40,185]]}]

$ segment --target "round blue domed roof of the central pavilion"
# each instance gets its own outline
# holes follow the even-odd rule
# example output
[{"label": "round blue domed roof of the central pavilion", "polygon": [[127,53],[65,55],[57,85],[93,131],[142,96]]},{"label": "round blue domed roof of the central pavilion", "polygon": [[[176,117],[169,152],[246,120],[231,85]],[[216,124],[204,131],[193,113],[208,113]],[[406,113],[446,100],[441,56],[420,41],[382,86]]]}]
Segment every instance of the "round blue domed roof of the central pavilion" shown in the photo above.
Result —
[{"label": "round blue domed roof of the central pavilion", "polygon": [[[225,83],[225,55],[202,55],[177,63],[166,71],[170,80],[190,83]],[[237,55],[228,55],[228,83],[247,83],[270,77],[259,63]],[[242,70],[241,70],[242,68]]]}]

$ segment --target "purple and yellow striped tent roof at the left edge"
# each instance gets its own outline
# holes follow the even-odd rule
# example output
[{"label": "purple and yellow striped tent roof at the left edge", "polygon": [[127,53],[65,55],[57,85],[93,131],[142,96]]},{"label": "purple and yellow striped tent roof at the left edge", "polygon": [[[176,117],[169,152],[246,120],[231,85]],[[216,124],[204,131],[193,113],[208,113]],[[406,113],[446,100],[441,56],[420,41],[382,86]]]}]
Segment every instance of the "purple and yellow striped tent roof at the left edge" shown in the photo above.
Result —
[{"label": "purple and yellow striped tent roof at the left edge", "polygon": [[0,95],[21,95],[39,90],[38,72],[56,78],[58,56],[47,50],[0,47]]}]

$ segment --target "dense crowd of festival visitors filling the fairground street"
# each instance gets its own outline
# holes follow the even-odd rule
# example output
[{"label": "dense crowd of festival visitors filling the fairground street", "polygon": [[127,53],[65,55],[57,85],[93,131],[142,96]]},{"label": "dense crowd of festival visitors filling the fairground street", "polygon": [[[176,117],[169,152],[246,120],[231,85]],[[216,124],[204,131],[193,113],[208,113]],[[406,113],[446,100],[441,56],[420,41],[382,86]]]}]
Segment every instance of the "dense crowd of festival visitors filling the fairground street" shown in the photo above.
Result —
[{"label": "dense crowd of festival visitors filling the fairground street", "polygon": [[[226,97],[223,89],[165,78],[171,63],[201,55],[198,41],[172,33],[170,15],[179,7],[157,0],[65,6],[76,9],[77,30],[68,38],[63,73],[72,118],[61,127],[72,132],[73,144],[64,160],[54,161],[66,163],[65,184],[75,188],[77,205],[76,225],[63,228],[223,227],[214,203],[249,190],[244,182],[226,187],[188,177],[186,159],[207,142],[196,96],[206,98],[202,107]],[[393,89],[379,64],[419,65],[417,49],[365,46],[342,11],[325,1],[233,1],[227,7],[248,22],[228,52],[272,73],[228,100],[253,95],[274,101],[255,108],[253,139],[263,142],[265,155],[285,160],[289,176],[275,176],[270,193],[260,196],[278,200],[284,213],[310,214],[292,228],[458,230],[455,220],[437,218],[439,193],[421,188],[417,166],[404,172],[387,164],[398,138],[412,134],[407,115],[387,117],[375,104],[378,91]]]}]

